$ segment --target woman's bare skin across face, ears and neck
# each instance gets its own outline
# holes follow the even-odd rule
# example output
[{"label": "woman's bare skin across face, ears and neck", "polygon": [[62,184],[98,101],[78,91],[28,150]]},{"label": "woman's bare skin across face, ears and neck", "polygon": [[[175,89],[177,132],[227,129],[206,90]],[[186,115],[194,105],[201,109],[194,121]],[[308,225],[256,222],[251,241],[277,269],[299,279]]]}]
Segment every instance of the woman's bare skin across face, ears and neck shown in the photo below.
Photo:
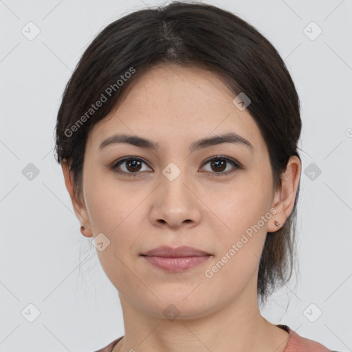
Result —
[{"label": "woman's bare skin across face, ears and neck", "polygon": [[[248,109],[234,105],[235,96],[212,72],[159,65],[91,131],[81,199],[74,197],[73,175],[62,165],[74,210],[85,225],[83,234],[103,233],[110,241],[97,254],[118,289],[124,316],[125,335],[113,352],[281,352],[287,346],[288,333],[261,316],[256,285],[265,236],[278,230],[274,220],[283,225],[292,212],[300,161],[289,159],[283,186],[275,191],[261,131]],[[253,151],[230,143],[188,150],[195,140],[229,131],[249,140]],[[115,133],[146,137],[159,149],[111,144],[99,151],[100,143]],[[214,155],[232,157],[243,169],[219,175],[210,162],[204,163]],[[126,156],[145,160],[135,168],[136,177],[109,168]],[[173,181],[162,173],[170,162],[180,170]],[[228,162],[221,172],[233,167]],[[134,169],[124,162],[120,170]],[[276,214],[207,278],[204,271],[272,208]],[[170,273],[140,256],[159,245],[190,245],[212,256]],[[179,311],[175,320],[163,314],[170,304]]]}]

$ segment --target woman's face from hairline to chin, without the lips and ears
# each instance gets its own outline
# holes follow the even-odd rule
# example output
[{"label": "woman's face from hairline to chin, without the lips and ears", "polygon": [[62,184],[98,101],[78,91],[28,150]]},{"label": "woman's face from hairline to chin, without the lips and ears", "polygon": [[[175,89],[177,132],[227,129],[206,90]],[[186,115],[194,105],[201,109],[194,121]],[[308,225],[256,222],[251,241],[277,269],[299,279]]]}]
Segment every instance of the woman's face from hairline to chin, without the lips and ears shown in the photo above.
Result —
[{"label": "woman's face from hairline to chin, without the lips and ears", "polygon": [[[180,317],[196,318],[256,300],[276,200],[267,147],[235,96],[214,73],[154,67],[87,140],[80,214],[100,236],[97,254],[120,297],[153,316],[177,307]],[[227,133],[247,142],[195,146]],[[100,148],[115,134],[142,137],[155,148]],[[167,270],[141,255],[161,245],[210,255]]]}]

